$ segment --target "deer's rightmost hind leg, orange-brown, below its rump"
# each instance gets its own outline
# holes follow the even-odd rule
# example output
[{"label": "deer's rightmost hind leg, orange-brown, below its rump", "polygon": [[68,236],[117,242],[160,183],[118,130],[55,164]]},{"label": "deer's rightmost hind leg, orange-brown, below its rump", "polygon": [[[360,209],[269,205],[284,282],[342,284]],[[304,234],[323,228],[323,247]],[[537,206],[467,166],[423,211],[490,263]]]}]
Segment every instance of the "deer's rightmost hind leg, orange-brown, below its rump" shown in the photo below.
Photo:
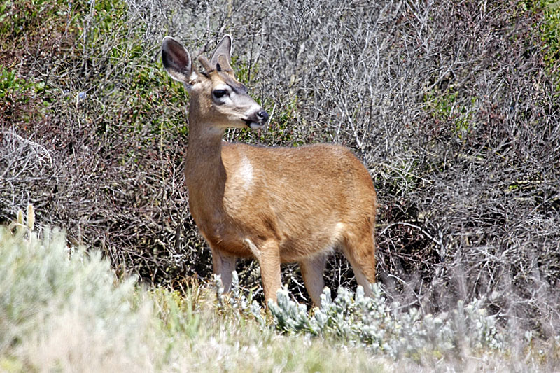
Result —
[{"label": "deer's rightmost hind leg, orange-brown, below its rump", "polygon": [[365,234],[347,233],[342,244],[344,256],[349,260],[358,284],[365,294],[372,296],[370,283],[375,282],[375,240],[373,232]]}]

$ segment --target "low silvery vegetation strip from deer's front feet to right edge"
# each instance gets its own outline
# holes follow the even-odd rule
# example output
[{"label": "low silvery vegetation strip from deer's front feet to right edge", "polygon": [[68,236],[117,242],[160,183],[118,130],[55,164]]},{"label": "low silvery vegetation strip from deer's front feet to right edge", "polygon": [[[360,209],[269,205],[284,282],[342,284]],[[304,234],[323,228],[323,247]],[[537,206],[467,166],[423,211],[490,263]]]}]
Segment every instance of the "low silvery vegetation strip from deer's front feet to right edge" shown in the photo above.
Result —
[{"label": "low silvery vegetation strip from deer's front feet to right edge", "polygon": [[[414,307],[388,302],[378,284],[372,285],[373,297],[365,297],[358,286],[356,293],[339,288],[332,300],[330,289],[321,295],[321,307],[310,312],[304,304],[290,300],[286,288],[278,290],[278,303],[269,302],[272,325],[263,317],[265,310],[253,300],[253,293],[239,286],[233,274],[232,293],[225,295],[221,280],[214,278],[218,309],[253,318],[261,330],[275,328],[285,335],[304,335],[344,346],[360,346],[374,356],[445,370],[502,370],[514,366],[521,371],[558,369],[560,335],[547,340],[535,339],[533,331],[510,323],[500,326],[496,315],[489,314],[487,300],[458,301],[449,311],[423,314]],[[238,316],[239,317],[239,316]],[[517,338],[522,335],[522,338]],[[436,363],[437,362],[437,363]],[[441,369],[441,368],[439,368]]]}]

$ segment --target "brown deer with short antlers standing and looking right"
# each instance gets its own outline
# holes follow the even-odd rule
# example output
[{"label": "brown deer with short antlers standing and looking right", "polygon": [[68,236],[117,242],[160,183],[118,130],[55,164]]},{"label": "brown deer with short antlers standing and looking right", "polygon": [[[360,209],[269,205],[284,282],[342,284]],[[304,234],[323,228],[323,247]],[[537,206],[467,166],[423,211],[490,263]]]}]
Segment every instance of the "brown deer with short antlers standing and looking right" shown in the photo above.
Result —
[{"label": "brown deer with short antlers standing and looking right", "polygon": [[258,129],[268,120],[235,79],[231,45],[226,35],[210,60],[198,57],[204,71],[174,38],[166,37],[162,48],[165,70],[190,94],[186,185],[214,274],[228,291],[236,258],[256,258],[265,299],[276,302],[281,263],[298,262],[311,300],[319,305],[327,255],[342,248],[371,295],[376,197],[370,174],[343,146],[223,142],[227,127]]}]

